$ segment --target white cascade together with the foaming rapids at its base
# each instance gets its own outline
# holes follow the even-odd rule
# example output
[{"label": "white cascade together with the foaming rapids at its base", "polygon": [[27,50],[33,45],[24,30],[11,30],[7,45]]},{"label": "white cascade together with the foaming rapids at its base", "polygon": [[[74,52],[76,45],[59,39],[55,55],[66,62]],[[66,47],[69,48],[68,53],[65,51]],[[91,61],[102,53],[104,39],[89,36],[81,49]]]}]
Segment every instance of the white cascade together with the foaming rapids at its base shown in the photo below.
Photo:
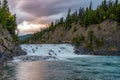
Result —
[{"label": "white cascade together with the foaming rapids at its base", "polygon": [[77,55],[71,44],[22,44],[22,50],[27,55],[14,57],[14,61],[36,61],[36,60],[65,60],[67,58],[86,57],[88,55]]}]

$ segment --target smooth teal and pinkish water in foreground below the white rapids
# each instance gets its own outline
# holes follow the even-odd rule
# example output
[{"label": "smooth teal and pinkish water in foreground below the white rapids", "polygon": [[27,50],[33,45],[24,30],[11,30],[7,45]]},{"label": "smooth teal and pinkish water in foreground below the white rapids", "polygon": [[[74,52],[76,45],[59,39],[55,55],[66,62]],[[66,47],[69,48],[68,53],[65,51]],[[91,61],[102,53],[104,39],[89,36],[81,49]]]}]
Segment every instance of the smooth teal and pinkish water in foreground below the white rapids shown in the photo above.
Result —
[{"label": "smooth teal and pinkish water in foreground below the white rapids", "polygon": [[[3,75],[4,74],[4,75]],[[0,80],[120,80],[120,57],[8,63]]]}]

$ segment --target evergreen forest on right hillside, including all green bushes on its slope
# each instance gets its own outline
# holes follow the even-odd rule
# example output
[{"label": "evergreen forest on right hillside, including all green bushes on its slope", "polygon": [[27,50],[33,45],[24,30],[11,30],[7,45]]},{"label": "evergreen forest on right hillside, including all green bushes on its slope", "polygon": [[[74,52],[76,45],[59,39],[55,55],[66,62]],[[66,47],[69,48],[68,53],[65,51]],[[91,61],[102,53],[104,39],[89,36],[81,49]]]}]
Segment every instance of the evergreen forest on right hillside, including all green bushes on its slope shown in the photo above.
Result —
[{"label": "evergreen forest on right hillside, including all green bushes on its slope", "polygon": [[[34,33],[30,38],[21,41],[22,43],[35,43],[38,39],[40,39],[41,43],[45,43],[44,34],[46,32],[54,32],[57,27],[64,27],[66,31],[69,31],[74,25],[80,25],[83,28],[87,29],[89,25],[92,24],[100,24],[105,20],[116,21],[117,24],[120,24],[120,3],[118,0],[112,1],[102,1],[101,5],[97,6],[96,9],[92,8],[92,2],[90,2],[89,7],[86,9],[81,8],[76,10],[75,12],[71,12],[71,9],[68,10],[68,14],[66,18],[61,17],[60,19],[56,20],[55,22],[51,22],[48,28],[42,29],[40,32]],[[98,26],[100,29],[100,27]],[[73,32],[76,32],[77,28],[74,27]],[[54,34],[54,33],[53,33]],[[48,37],[49,34],[47,34]],[[61,34],[61,36],[64,34]],[[104,38],[98,38],[94,31],[91,29],[88,31],[88,41],[86,46],[92,48],[95,44],[96,47],[101,47],[104,44]],[[72,43],[76,45],[80,45],[81,41],[85,40],[84,35],[75,36],[72,39]]]}]

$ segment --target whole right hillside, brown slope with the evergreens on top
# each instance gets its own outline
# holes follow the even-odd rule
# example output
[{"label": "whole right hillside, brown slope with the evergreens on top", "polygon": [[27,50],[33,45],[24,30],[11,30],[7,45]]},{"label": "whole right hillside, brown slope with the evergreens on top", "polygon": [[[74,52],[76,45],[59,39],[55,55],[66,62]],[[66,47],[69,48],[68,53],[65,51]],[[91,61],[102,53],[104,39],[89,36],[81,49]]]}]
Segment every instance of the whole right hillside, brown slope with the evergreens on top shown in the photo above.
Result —
[{"label": "whole right hillside, brown slope with the evergreens on top", "polygon": [[120,4],[104,0],[96,10],[92,3],[86,9],[71,13],[52,22],[25,43],[72,43],[94,51],[120,50]]}]

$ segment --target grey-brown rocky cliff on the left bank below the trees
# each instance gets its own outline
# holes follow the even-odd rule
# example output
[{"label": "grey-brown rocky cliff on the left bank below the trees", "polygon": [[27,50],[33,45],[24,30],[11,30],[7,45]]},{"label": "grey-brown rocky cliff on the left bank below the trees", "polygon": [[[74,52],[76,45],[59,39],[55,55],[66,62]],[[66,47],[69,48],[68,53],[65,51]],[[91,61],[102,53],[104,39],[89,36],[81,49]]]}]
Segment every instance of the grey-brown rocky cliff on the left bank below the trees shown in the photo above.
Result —
[{"label": "grey-brown rocky cliff on the left bank below the trees", "polygon": [[0,63],[12,59],[13,56],[24,54],[19,46],[15,44],[7,29],[0,25]]}]

